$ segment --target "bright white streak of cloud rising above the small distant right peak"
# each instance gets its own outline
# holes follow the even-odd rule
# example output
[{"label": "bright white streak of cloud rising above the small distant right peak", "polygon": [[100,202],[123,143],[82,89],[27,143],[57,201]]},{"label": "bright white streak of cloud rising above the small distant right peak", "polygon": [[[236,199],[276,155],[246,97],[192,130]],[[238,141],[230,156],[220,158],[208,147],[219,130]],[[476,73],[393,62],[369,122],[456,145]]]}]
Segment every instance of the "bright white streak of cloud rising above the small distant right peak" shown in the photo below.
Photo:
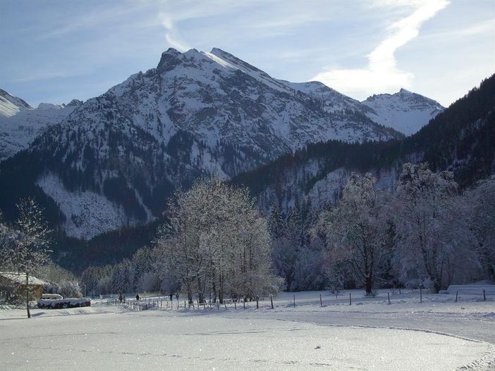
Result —
[{"label": "bright white streak of cloud rising above the small distant right peak", "polygon": [[413,3],[415,11],[393,23],[389,27],[389,36],[367,55],[366,68],[328,70],[317,74],[312,80],[321,81],[358,99],[364,99],[376,92],[393,92],[401,87],[410,87],[414,75],[397,68],[396,50],[415,39],[422,24],[448,4],[448,0]]}]

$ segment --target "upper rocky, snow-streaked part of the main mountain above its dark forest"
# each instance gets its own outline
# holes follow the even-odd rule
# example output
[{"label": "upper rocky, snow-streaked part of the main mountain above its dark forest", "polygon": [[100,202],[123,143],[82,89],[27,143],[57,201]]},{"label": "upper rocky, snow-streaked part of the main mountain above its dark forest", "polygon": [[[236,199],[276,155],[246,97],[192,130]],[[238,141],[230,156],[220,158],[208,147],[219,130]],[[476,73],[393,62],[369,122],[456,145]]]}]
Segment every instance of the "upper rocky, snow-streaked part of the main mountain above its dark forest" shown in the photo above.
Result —
[{"label": "upper rocky, snow-streaked part of the main mountain above its dark forest", "polygon": [[[208,146],[230,142],[267,158],[320,140],[398,136],[358,111],[324,111],[307,94],[220,49],[169,49],[156,69],[131,76],[109,94],[159,140],[179,128]],[[150,113],[159,114],[150,119]]]}]

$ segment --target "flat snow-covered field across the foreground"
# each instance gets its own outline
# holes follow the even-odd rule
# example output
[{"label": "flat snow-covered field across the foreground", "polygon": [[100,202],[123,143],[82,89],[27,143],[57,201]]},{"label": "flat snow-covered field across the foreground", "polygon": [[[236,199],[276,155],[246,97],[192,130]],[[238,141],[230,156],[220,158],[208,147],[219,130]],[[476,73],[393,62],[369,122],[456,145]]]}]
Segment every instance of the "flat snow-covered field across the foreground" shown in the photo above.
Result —
[{"label": "flat snow-covered field across the foreground", "polygon": [[403,291],[389,305],[386,291],[312,291],[283,293],[274,309],[265,298],[259,309],[145,311],[103,300],[35,309],[31,320],[0,310],[0,357],[5,370],[494,370],[495,298],[455,297],[420,303],[418,291]]}]

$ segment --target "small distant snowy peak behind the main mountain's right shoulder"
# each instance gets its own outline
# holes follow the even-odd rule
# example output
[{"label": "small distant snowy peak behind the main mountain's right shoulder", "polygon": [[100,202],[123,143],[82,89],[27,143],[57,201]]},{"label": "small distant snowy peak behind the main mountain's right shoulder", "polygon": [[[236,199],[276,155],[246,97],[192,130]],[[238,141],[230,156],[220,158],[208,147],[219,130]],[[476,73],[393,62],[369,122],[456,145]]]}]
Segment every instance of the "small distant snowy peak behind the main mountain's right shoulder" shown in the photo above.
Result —
[{"label": "small distant snowy peak behind the main mountain's right shoulder", "polygon": [[405,89],[396,94],[369,96],[361,103],[372,108],[366,114],[374,122],[406,135],[414,134],[445,109],[433,99]]}]

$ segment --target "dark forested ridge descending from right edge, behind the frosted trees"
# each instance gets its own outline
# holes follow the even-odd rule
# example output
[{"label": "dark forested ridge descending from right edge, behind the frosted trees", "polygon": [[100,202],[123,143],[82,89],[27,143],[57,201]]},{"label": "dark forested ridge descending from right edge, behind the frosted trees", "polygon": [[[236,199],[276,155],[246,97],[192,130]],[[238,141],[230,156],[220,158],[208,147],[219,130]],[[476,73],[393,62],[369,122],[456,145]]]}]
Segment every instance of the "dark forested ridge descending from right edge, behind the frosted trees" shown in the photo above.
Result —
[{"label": "dark forested ridge descending from right edge, behind the frosted trees", "polygon": [[428,125],[403,140],[311,144],[233,178],[269,212],[298,208],[302,214],[334,203],[351,171],[372,172],[377,186],[393,189],[402,164],[427,162],[450,170],[461,189],[495,174],[495,75],[484,80]]}]

